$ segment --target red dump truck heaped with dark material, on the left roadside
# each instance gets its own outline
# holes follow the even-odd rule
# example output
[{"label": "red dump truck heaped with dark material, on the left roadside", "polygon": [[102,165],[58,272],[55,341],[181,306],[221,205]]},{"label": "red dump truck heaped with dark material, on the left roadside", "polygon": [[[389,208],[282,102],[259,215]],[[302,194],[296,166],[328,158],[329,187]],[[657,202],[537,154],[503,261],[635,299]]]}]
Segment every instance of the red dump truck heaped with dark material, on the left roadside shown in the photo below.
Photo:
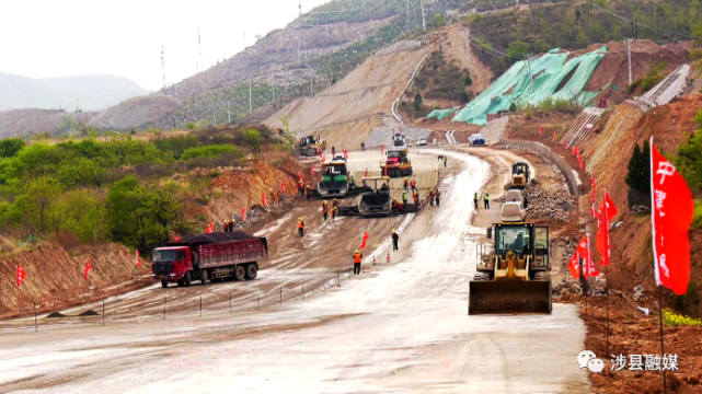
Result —
[{"label": "red dump truck heaped with dark material, on the left roadside", "polygon": [[268,241],[243,231],[186,236],[158,247],[152,254],[151,277],[162,287],[171,282],[207,285],[212,279],[253,280],[258,264],[268,259]]}]

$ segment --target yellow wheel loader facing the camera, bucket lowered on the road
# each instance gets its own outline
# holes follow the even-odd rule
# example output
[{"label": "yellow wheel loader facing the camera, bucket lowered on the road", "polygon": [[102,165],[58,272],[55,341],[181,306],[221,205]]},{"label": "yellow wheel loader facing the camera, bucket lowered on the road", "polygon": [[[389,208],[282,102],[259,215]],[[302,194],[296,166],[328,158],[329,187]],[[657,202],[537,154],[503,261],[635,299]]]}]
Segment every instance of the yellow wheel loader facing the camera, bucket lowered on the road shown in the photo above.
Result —
[{"label": "yellow wheel loader facing the camera, bucket lowered on the road", "polygon": [[487,229],[493,235],[469,282],[468,314],[551,313],[549,228],[499,222]]}]

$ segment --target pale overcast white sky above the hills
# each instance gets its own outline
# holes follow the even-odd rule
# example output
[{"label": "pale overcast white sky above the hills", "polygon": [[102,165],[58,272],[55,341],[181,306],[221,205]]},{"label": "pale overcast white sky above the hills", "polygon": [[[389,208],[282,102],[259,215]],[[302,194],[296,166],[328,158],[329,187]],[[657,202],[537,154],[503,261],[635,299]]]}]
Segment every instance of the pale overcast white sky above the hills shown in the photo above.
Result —
[{"label": "pale overcast white sky above the hills", "polygon": [[[148,90],[165,72],[197,71],[197,30],[208,68],[252,45],[254,35],[298,15],[298,0],[1,0],[0,71],[32,78],[107,73]],[[302,12],[329,0],[302,0]]]}]

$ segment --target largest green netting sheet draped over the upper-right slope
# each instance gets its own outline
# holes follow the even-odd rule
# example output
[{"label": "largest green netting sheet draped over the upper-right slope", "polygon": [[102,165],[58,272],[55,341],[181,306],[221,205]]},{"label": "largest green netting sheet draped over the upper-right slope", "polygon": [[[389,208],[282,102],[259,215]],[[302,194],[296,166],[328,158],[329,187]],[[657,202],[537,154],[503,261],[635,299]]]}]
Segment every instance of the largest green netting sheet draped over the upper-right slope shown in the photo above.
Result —
[{"label": "largest green netting sheet draped over the upper-right slope", "polygon": [[[518,106],[538,105],[546,99],[587,103],[594,95],[583,94],[583,89],[606,51],[607,47],[602,47],[568,61],[566,61],[567,54],[549,51],[531,62],[533,91],[529,78],[529,66],[525,61],[518,61],[451,120],[485,125],[487,114],[508,111],[513,103]],[[571,72],[573,76],[568,82],[556,92]]]}]

